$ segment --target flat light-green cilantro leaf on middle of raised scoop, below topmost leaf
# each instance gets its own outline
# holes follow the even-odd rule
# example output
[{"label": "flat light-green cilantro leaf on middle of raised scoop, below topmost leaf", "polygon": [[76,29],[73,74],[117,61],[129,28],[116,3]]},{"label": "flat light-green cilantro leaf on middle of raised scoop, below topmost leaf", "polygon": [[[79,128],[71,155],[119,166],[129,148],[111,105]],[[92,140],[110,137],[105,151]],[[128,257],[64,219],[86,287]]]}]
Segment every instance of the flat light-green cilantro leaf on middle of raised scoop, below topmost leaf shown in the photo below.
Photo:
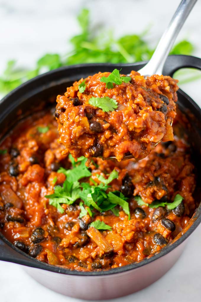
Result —
[{"label": "flat light-green cilantro leaf on middle of raised scoop, below topmost leaf", "polygon": [[101,108],[103,112],[114,111],[118,107],[117,101],[115,101],[113,98],[109,98],[108,96],[104,98],[91,97],[89,104]]}]

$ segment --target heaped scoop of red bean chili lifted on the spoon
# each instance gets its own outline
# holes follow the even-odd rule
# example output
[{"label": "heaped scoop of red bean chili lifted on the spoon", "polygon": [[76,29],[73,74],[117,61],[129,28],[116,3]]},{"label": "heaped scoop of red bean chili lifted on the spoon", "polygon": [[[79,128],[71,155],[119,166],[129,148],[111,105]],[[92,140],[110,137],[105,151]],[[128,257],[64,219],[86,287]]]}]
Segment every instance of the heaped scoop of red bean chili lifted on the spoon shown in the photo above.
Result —
[{"label": "heaped scoop of red bean chili lifted on the spoon", "polygon": [[[159,141],[173,140],[177,80],[159,75],[145,79],[131,71],[129,83],[108,89],[100,80],[109,75],[99,72],[86,78],[83,93],[78,89],[81,79],[68,87],[65,95],[58,95],[56,119],[59,142],[65,147],[62,154],[70,152],[75,158],[114,156],[121,161],[131,153],[142,159]],[[89,104],[91,97],[112,98],[118,108],[103,112]],[[79,102],[74,104],[75,100]]]}]

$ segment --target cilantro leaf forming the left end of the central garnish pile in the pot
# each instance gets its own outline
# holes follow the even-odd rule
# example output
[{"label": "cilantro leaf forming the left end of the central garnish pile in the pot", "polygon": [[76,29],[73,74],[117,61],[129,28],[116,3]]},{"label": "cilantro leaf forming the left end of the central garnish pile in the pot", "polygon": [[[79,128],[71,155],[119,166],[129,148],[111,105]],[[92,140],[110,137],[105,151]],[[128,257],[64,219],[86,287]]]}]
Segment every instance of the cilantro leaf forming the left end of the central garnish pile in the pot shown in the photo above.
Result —
[{"label": "cilantro leaf forming the left end of the central garnish pile in the pot", "polygon": [[55,186],[54,193],[45,195],[45,197],[49,198],[49,204],[56,207],[60,213],[64,213],[60,204],[73,204],[80,197],[80,191],[79,182],[69,182],[66,179],[63,187]]}]

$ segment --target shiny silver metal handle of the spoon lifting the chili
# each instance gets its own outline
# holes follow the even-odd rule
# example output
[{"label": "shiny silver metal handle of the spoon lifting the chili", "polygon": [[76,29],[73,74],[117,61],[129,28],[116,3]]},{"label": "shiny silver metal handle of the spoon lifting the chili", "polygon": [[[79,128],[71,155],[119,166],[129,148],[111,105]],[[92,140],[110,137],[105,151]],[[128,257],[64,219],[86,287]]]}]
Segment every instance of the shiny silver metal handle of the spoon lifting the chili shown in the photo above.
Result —
[{"label": "shiny silver metal handle of the spoon lifting the chili", "polygon": [[142,69],[138,70],[141,75],[151,76],[152,74],[162,74],[163,66],[174,41],[196,2],[197,0],[181,1],[151,59]]}]

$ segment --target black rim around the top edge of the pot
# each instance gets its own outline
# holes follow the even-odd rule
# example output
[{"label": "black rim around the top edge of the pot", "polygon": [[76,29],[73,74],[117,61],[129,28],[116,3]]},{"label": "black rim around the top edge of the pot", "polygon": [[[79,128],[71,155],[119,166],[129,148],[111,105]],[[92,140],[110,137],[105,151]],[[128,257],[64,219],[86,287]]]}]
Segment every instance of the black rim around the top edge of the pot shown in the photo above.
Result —
[{"label": "black rim around the top edge of the pot", "polygon": [[[172,57],[175,57],[175,56],[172,56]],[[180,56],[180,57],[184,57],[184,56]],[[185,57],[190,57],[190,56],[185,56]],[[96,64],[77,64],[77,65],[73,65],[73,66],[71,65],[71,66],[60,67],[58,69],[54,69],[54,70],[46,72],[42,75],[39,75],[39,76],[37,76],[33,79],[30,79],[29,81],[21,84],[20,86],[18,86],[17,88],[15,88],[11,92],[9,92],[4,98],[2,98],[2,100],[0,101],[0,104],[4,103],[10,97],[12,97],[16,92],[20,92],[22,89],[26,88],[30,84],[34,84],[34,82],[37,82],[40,79],[44,79],[47,76],[51,76],[51,75],[53,75],[57,72],[60,72],[60,71],[69,71],[70,69],[74,69],[74,68],[79,69],[79,68],[85,68],[85,67],[90,67],[90,66],[93,66],[93,67],[99,67],[99,66],[102,66],[102,67],[111,66],[112,67],[112,66],[116,66],[116,68],[117,68],[117,66],[120,66],[120,67],[140,66],[140,67],[142,67],[145,64],[146,64],[146,62],[139,62],[139,63],[137,62],[137,63],[132,63],[132,64],[130,64],[130,63],[127,63],[127,64],[96,63]],[[55,84],[56,84],[56,82],[55,82]],[[34,88],[32,87],[32,89],[34,89]],[[36,90],[36,87],[35,87],[35,90]],[[193,105],[193,107],[196,109],[196,111],[201,116],[201,109],[199,108],[199,106],[181,89],[178,90],[178,93],[181,94],[182,96],[184,96],[185,98],[187,98],[188,101]],[[191,224],[190,227],[188,227],[189,223]],[[47,271],[52,271],[52,272],[56,272],[56,273],[60,273],[60,274],[65,274],[65,275],[106,276],[106,275],[113,275],[113,274],[118,274],[118,273],[130,271],[130,270],[135,269],[135,268],[140,268],[141,266],[144,266],[146,264],[149,264],[150,262],[153,262],[153,261],[161,258],[162,256],[164,256],[164,255],[168,254],[169,252],[171,252],[177,246],[179,246],[182,242],[184,242],[184,240],[186,240],[190,236],[191,233],[193,233],[193,231],[196,229],[196,227],[201,223],[201,204],[199,204],[199,207],[197,208],[194,216],[190,219],[189,223],[184,228],[184,230],[183,230],[184,233],[178,239],[173,241],[173,243],[170,243],[167,246],[165,246],[164,248],[162,248],[159,252],[156,252],[150,258],[145,258],[145,259],[141,260],[140,262],[134,262],[134,263],[131,263],[131,264],[128,264],[128,265],[118,267],[118,268],[111,268],[109,270],[101,270],[101,271],[76,271],[76,270],[69,270],[68,268],[63,268],[62,266],[50,265],[48,263],[44,263],[44,262],[41,262],[37,259],[34,259],[30,255],[27,255],[26,253],[22,252],[20,249],[17,249],[10,241],[8,241],[8,239],[5,236],[2,235],[2,233],[0,233],[0,239],[2,239],[2,241],[4,241],[6,243],[6,245],[8,245],[11,249],[13,249],[15,252],[17,252],[18,254],[21,255],[21,257],[19,259],[17,259],[16,261],[13,257],[12,260],[10,260],[11,262],[18,263],[18,264],[21,264],[21,265],[30,266],[30,267],[33,267],[33,268],[40,268],[40,269],[44,269],[44,270],[47,270]],[[0,257],[0,260],[1,260],[1,257]]]}]

